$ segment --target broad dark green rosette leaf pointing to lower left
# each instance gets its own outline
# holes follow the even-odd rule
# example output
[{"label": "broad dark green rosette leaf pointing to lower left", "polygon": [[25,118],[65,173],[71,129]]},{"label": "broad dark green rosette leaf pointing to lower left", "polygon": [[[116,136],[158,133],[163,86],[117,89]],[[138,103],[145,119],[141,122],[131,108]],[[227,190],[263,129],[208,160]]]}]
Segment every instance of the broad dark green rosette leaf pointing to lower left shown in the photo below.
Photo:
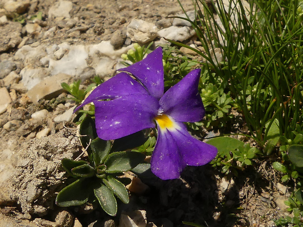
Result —
[{"label": "broad dark green rosette leaf pointing to lower left", "polygon": [[58,206],[79,206],[85,204],[89,197],[90,181],[81,178],[63,188],[56,197]]}]

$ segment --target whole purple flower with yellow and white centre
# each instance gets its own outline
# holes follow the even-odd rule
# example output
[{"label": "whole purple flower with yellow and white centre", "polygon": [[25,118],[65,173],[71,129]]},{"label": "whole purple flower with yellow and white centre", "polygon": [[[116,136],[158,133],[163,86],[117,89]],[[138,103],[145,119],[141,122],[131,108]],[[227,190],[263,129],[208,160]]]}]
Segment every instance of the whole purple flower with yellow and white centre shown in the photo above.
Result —
[{"label": "whole purple flower with yellow and white centre", "polygon": [[191,71],[165,93],[161,47],[120,71],[124,72],[94,89],[78,107],[94,103],[98,137],[114,140],[156,123],[158,138],[151,171],[163,180],[179,178],[186,165],[205,165],[216,157],[216,147],[193,138],[182,123],[204,117],[198,92],[200,69]]}]

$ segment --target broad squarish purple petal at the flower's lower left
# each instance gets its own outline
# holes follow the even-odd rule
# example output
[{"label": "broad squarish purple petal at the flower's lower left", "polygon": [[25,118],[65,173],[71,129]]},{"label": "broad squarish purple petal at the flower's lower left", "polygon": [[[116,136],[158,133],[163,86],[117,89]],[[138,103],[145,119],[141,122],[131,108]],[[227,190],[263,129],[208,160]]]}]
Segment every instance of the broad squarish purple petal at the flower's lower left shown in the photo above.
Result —
[{"label": "broad squarish purple petal at the flower's lower left", "polygon": [[149,94],[132,94],[109,101],[95,101],[98,137],[114,140],[154,127],[158,100]]}]

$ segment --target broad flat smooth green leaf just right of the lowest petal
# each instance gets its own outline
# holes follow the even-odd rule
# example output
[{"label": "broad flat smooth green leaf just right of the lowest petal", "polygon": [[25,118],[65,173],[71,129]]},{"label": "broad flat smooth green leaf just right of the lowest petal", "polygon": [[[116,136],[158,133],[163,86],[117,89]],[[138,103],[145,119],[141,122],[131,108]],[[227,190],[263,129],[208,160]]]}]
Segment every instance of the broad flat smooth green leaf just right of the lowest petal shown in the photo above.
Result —
[{"label": "broad flat smooth green leaf just right of the lowest petal", "polygon": [[234,151],[239,147],[243,147],[244,145],[244,142],[231,137],[216,137],[210,139],[206,143],[216,146],[219,156],[227,155],[230,151]]}]

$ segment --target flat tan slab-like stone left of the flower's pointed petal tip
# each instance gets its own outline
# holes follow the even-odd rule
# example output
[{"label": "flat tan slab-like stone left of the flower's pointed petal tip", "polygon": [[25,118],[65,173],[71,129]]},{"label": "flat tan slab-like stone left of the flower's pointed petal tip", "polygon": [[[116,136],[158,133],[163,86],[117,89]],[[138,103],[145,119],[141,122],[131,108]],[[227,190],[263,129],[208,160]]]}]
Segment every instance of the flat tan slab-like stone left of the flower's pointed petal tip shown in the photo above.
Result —
[{"label": "flat tan slab-like stone left of the flower's pointed petal tip", "polygon": [[38,103],[41,99],[52,99],[61,94],[64,89],[61,83],[69,83],[71,76],[59,73],[55,76],[47,77],[31,88],[27,95],[33,103]]}]

